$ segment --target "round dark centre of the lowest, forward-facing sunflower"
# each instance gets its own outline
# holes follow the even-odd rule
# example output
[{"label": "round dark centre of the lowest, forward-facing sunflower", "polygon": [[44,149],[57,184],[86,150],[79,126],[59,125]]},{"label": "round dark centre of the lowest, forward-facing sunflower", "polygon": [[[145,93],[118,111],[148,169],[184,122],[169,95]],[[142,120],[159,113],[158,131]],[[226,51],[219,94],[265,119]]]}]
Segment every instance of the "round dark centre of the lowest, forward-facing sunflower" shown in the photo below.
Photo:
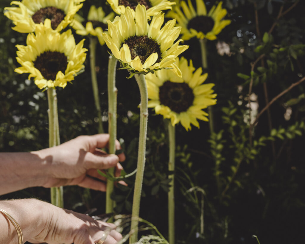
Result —
[{"label": "round dark centre of the lowest, forward-facing sunflower", "polygon": [[185,112],[194,101],[194,93],[187,83],[165,81],[159,87],[160,104],[169,107],[176,113]]}]

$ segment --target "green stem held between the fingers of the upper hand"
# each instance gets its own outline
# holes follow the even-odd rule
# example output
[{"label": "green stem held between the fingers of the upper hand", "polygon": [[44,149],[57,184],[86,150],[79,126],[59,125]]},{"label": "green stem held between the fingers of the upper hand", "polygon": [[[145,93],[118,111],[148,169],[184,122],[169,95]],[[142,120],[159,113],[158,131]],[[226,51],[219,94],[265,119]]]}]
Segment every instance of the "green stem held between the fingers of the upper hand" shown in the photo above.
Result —
[{"label": "green stem held between the fingers of the upper hand", "polygon": [[[109,153],[115,154],[115,141],[117,138],[117,88],[115,87],[115,75],[117,69],[117,59],[109,56],[108,61],[108,133],[109,133]],[[108,169],[114,175],[114,167]],[[111,194],[114,188],[114,181],[107,179],[106,188],[106,213],[113,212],[114,202]],[[110,220],[112,222],[112,220]]]}]

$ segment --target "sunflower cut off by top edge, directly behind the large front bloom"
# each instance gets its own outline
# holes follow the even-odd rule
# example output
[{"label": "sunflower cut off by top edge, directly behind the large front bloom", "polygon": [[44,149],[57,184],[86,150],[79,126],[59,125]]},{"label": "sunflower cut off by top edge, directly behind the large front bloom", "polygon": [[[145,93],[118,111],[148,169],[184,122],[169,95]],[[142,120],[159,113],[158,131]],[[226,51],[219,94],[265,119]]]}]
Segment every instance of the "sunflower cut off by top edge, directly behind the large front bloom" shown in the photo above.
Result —
[{"label": "sunflower cut off by top edge, directly behind the large front bloom", "polygon": [[172,9],[171,5],[176,4],[166,0],[107,0],[107,2],[117,14],[125,13],[125,9],[130,7],[133,16],[135,16],[136,6],[138,4],[144,5],[149,19],[149,16],[154,16],[162,10]]}]

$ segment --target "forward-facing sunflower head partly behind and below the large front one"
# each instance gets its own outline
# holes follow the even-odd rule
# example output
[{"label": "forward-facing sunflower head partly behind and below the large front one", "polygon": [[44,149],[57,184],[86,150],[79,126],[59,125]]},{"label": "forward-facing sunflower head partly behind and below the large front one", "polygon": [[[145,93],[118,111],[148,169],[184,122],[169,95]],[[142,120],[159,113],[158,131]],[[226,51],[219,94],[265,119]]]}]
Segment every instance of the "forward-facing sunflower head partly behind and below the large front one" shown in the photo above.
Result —
[{"label": "forward-facing sunflower head partly behind and below the large front one", "polygon": [[216,104],[212,87],[214,84],[202,84],[208,74],[202,74],[199,68],[195,72],[192,60],[177,58],[177,66],[182,72],[178,77],[171,70],[159,70],[146,75],[148,107],[155,108],[157,114],[170,119],[171,124],[181,122],[185,129],[191,130],[191,124],[199,128],[197,119],[208,121],[208,114],[202,109]]}]

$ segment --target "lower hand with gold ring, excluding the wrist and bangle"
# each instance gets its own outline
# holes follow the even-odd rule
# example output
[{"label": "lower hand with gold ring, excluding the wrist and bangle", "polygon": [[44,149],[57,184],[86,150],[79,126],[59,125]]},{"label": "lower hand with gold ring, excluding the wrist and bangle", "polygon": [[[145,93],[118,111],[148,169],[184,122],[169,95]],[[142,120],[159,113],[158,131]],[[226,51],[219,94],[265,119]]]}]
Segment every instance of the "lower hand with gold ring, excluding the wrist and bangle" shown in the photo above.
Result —
[{"label": "lower hand with gold ring, excluding the wrist and bangle", "polygon": [[29,239],[32,243],[46,242],[94,244],[106,235],[103,244],[115,244],[122,239],[122,235],[115,231],[115,224],[96,221],[88,215],[76,213],[43,203],[45,226],[35,237]]}]

